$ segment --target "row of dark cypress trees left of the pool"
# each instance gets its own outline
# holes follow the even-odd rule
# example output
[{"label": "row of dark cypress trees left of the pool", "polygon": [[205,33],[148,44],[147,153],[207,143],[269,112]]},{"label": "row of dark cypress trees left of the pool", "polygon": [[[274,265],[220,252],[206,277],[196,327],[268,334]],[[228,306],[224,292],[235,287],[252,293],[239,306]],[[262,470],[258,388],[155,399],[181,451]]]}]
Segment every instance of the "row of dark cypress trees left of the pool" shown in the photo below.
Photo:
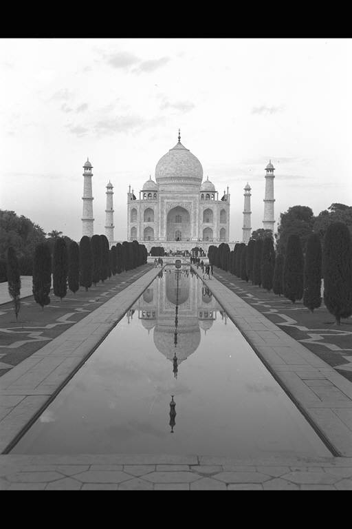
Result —
[{"label": "row of dark cypress trees left of the pool", "polygon": [[[120,242],[109,249],[109,241],[104,235],[91,238],[83,236],[79,245],[67,242],[57,236],[51,251],[48,242],[40,242],[34,248],[32,260],[33,295],[42,309],[50,304],[50,290],[53,284],[54,295],[65,298],[67,289],[76,293],[80,287],[86,291],[92,284],[96,286],[116,273],[128,271],[147,262],[147,251],[137,240]],[[21,271],[17,252],[13,247],[7,251],[6,271],[8,291],[14,301],[16,319],[19,314],[21,293]]]}]

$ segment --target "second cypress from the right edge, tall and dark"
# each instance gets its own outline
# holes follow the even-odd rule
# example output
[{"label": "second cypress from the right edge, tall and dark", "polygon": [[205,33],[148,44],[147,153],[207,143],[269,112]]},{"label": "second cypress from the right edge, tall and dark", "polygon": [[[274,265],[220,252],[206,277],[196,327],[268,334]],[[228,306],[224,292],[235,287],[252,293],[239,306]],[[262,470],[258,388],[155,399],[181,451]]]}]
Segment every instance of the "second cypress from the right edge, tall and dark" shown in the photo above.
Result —
[{"label": "second cypress from the right edge, tall and dark", "polygon": [[320,307],[322,285],[322,245],[318,234],[311,234],[305,250],[303,304],[309,311]]}]

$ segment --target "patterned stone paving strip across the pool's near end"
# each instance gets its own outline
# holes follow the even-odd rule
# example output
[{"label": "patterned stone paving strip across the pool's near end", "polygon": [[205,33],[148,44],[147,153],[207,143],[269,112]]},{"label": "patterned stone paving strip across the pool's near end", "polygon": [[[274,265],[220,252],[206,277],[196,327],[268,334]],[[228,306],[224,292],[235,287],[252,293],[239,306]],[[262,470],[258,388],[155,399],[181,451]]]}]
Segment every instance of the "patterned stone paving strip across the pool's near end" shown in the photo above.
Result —
[{"label": "patterned stone paving strip across the pool's near end", "polygon": [[245,461],[245,465],[223,457],[212,457],[207,464],[208,459],[196,455],[0,456],[0,490],[352,489],[351,457],[277,457],[261,464]]}]

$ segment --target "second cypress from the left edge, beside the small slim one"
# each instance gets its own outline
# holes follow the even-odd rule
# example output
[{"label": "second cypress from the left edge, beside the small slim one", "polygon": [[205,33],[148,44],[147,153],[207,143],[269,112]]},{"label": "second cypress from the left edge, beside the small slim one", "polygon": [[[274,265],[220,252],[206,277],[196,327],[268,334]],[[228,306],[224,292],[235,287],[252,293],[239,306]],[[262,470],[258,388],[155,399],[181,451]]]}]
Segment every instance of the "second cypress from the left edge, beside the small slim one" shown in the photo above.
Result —
[{"label": "second cypress from the left edge, beside the small slim one", "polygon": [[34,301],[41,305],[50,303],[50,288],[52,286],[52,256],[46,242],[36,245],[33,260],[33,295]]}]

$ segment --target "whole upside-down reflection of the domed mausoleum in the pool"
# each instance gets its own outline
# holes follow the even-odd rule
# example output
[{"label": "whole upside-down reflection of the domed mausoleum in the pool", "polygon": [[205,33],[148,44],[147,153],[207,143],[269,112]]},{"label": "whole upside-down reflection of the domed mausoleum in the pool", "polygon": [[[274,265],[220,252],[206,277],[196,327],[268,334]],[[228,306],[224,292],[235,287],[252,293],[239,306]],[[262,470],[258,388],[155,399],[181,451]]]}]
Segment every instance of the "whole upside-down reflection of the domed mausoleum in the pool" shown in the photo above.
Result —
[{"label": "whole upside-down reflection of the domed mausoleum in the pool", "polygon": [[[177,366],[194,353],[206,333],[225,313],[208,288],[188,269],[164,269],[131,307],[150,333],[158,351]],[[175,360],[176,358],[176,360]]]}]

